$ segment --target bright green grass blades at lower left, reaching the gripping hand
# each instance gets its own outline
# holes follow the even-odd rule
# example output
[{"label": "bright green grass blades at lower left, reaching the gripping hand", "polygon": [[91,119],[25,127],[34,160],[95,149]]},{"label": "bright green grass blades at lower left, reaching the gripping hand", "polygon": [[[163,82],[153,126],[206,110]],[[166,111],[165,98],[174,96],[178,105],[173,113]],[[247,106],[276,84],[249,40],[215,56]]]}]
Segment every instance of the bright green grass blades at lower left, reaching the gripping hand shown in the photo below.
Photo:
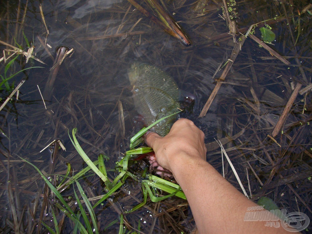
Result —
[{"label": "bright green grass blades at lower left, reaching the gripping hand", "polygon": [[[159,121],[161,121],[162,119],[160,119]],[[146,130],[145,129],[141,130],[138,134],[136,134],[136,136],[141,137],[150,127],[152,126],[145,128]],[[46,175],[44,175],[35,165],[28,162],[27,160],[24,160],[24,159],[22,160],[27,162],[28,164],[30,164],[32,167],[34,167],[37,170],[37,172],[41,175],[41,177],[43,178],[43,180],[45,181],[46,185],[49,187],[51,192],[57,197],[58,202],[56,202],[54,205],[61,212],[63,212],[72,222],[74,222],[73,233],[77,233],[78,230],[80,233],[93,233],[93,232],[99,233],[99,229],[97,227],[97,218],[96,218],[94,209],[98,205],[102,204],[106,199],[108,199],[114,192],[118,191],[118,189],[124,184],[125,180],[128,177],[131,177],[133,180],[138,181],[137,177],[135,177],[132,173],[128,172],[129,159],[133,157],[134,155],[151,152],[153,150],[150,147],[139,147],[137,149],[132,149],[132,150],[127,151],[125,153],[124,158],[120,160],[119,162],[116,162],[116,170],[117,172],[119,172],[119,174],[111,182],[107,174],[107,169],[104,163],[103,155],[99,155],[98,160],[95,162],[92,162],[91,159],[84,152],[84,150],[81,148],[79,142],[77,141],[76,132],[77,132],[76,128],[74,128],[71,131],[72,136],[70,136],[68,132],[69,137],[76,151],[83,158],[83,160],[87,163],[88,166],[84,168],[83,170],[81,170],[80,172],[76,173],[76,175],[73,175],[72,177],[68,177],[71,171],[71,165],[68,163],[66,176],[63,176],[64,177],[63,180],[60,182],[60,184],[57,187],[54,187],[54,185],[47,179]],[[134,137],[134,140],[137,137]],[[107,191],[107,193],[103,195],[93,206],[91,205],[88,197],[85,195],[85,192],[82,189],[82,186],[78,182],[78,179],[84,176],[85,173],[89,172],[90,170],[100,177],[100,179],[104,182],[105,189]],[[66,178],[68,178],[67,181],[65,181]],[[61,192],[64,191],[65,188],[68,188],[71,184],[73,184],[73,188],[74,188],[73,192],[74,192],[76,204],[79,208],[78,210],[74,210],[72,206],[69,205],[69,203],[66,202],[65,198],[61,195]],[[76,192],[75,187],[78,188],[79,193]],[[154,189],[151,189],[151,187],[153,187]],[[160,196],[159,195],[160,193],[157,193],[155,189],[159,189],[163,192],[167,192],[168,195]],[[124,213],[131,213],[143,207],[147,202],[148,196],[150,197],[152,202],[159,202],[172,196],[177,196],[186,200],[186,197],[179,185],[166,181],[164,179],[161,179],[153,175],[149,175],[148,179],[142,180],[142,190],[143,190],[143,202],[136,205],[129,211],[124,211]],[[82,202],[85,205],[83,205]],[[81,221],[81,218],[83,222]],[[54,223],[54,229],[52,229],[43,221],[41,222],[42,222],[42,225],[46,227],[46,229],[49,232],[60,233],[60,230],[57,225],[56,216],[55,216],[53,209],[52,209],[52,220]],[[117,220],[114,223],[116,222]],[[112,223],[111,225],[113,225],[114,223]],[[109,226],[110,224],[106,228],[108,228]],[[124,231],[125,230],[123,228],[123,215],[121,214],[119,233],[124,233]],[[136,233],[136,232],[133,232],[133,233]]]}]

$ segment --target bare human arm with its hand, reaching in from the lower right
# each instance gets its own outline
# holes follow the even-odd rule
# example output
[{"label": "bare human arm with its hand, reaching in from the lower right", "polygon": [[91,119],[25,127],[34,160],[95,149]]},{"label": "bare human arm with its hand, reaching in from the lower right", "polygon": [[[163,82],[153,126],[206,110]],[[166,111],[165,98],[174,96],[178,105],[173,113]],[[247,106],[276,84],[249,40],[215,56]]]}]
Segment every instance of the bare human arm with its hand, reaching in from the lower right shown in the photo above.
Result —
[{"label": "bare human arm with its hand, reaching in from the lower right", "polygon": [[244,221],[247,208],[257,204],[206,162],[204,133],[192,121],[180,119],[167,136],[149,133],[145,141],[183,189],[200,233],[288,233],[265,227],[266,222]]}]

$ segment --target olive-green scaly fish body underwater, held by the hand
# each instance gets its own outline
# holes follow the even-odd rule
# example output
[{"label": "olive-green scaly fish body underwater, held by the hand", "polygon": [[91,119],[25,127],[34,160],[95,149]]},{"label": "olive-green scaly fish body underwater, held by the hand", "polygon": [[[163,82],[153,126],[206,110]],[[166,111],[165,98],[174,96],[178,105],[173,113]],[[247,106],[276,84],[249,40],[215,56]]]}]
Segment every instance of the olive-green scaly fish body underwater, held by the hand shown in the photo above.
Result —
[{"label": "olive-green scaly fish body underwater, held by the hand", "polygon": [[[137,112],[150,125],[162,117],[178,112],[179,89],[177,83],[166,72],[147,63],[133,63],[128,70],[133,86],[133,101]],[[177,115],[156,124],[151,131],[165,136],[170,131]]]}]

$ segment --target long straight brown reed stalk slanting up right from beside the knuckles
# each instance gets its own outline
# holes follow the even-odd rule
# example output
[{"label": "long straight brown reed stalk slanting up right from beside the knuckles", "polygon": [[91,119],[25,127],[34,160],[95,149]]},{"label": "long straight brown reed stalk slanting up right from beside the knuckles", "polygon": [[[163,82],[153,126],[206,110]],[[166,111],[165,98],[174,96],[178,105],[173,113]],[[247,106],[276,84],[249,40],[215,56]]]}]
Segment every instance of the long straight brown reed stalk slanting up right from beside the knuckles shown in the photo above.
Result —
[{"label": "long straight brown reed stalk slanting up right from beside the knuckles", "polygon": [[[237,55],[239,54],[242,45],[244,44],[246,40],[246,37],[244,35],[242,35],[239,39],[238,42],[235,43],[235,46],[233,48],[232,54],[230,59],[228,59],[227,62],[227,66],[225,67],[224,71],[222,72],[221,77],[218,79],[218,81],[223,81],[225,80],[225,77],[227,76],[227,73],[229,73]],[[208,98],[205,106],[202,108],[202,112],[200,112],[199,117],[204,117],[211,105],[211,103],[213,102],[213,99],[216,97],[217,92],[219,91],[220,87],[221,87],[222,83],[217,82],[216,86],[214,87],[214,89],[212,90],[212,93],[210,94],[210,97]]]}]

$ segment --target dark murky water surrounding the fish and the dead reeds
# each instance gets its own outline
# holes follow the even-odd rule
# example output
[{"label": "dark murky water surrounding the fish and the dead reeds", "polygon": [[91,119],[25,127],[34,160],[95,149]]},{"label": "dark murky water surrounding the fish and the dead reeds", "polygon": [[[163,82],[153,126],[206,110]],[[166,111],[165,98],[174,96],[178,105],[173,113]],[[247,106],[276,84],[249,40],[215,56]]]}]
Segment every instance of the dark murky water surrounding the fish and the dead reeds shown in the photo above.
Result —
[{"label": "dark murky water surrounding the fish and the dead reeds", "polygon": [[[304,6],[304,2],[295,4],[298,9]],[[292,56],[288,59],[292,66],[286,66],[279,60],[269,60],[269,62],[262,60],[260,57],[268,57],[269,53],[248,38],[225,80],[226,83],[222,84],[217,92],[206,116],[198,118],[215,87],[216,82],[212,77],[217,67],[230,58],[233,49],[232,37],[227,36],[226,23],[218,17],[222,14],[219,5],[210,3],[205,12],[194,13],[192,12],[193,2],[170,2],[168,9],[174,13],[175,19],[191,39],[192,46],[190,47],[184,47],[177,39],[163,32],[138,10],[134,10],[135,8],[127,1],[44,1],[42,9],[49,30],[48,35],[40,15],[39,2],[22,1],[18,22],[22,22],[25,8],[27,12],[23,27],[15,23],[18,2],[9,2],[8,11],[4,8],[1,10],[1,40],[16,45],[13,39],[15,37],[18,44],[26,48],[27,45],[22,36],[23,29],[28,40],[35,46],[34,55],[46,65],[30,61],[33,63],[32,66],[44,68],[29,70],[27,82],[20,89],[20,101],[9,102],[0,113],[1,199],[5,201],[2,202],[0,215],[2,230],[14,230],[11,227],[14,225],[9,225],[5,221],[6,219],[13,220],[11,210],[16,209],[18,219],[22,220],[21,232],[36,231],[41,207],[45,204],[40,196],[44,193],[44,181],[32,167],[21,162],[17,156],[26,158],[41,171],[51,172],[51,174],[64,175],[67,169],[66,163],[70,162],[76,174],[85,167],[85,164],[69,141],[68,129],[71,131],[73,127],[77,127],[78,141],[88,156],[96,160],[100,153],[105,154],[110,157],[105,165],[107,163],[108,168],[115,167],[115,161],[122,156],[121,153],[129,149],[130,137],[142,127],[133,120],[136,111],[131,98],[132,87],[129,86],[126,75],[126,70],[134,61],[149,62],[161,67],[174,77],[180,89],[197,97],[194,111],[188,114],[188,118],[205,132],[205,142],[213,142],[213,138],[233,136],[242,129],[246,129],[236,141],[227,143],[225,147],[231,149],[236,146],[234,150],[229,150],[228,154],[236,165],[245,188],[248,188],[247,168],[253,199],[263,194],[246,160],[250,162],[263,183],[271,181],[270,159],[273,164],[278,162],[280,165],[277,168],[278,172],[274,174],[275,179],[280,178],[279,175],[287,177],[311,168],[311,158],[307,156],[311,154],[309,150],[311,129],[308,124],[311,111],[310,93],[297,98],[292,108],[293,112],[283,128],[292,140],[288,140],[286,135],[279,136],[281,138],[277,138],[277,142],[282,144],[282,148],[279,148],[266,138],[268,134],[271,134],[272,127],[292,93],[291,82],[300,81],[305,87],[311,76],[311,69],[309,69],[311,48],[308,46],[311,32],[307,29],[309,28],[307,13],[300,18],[302,33],[297,42],[297,55],[293,49],[290,49],[291,44],[287,44],[289,40],[287,42],[284,40],[285,37],[290,37],[285,19],[273,24],[273,31],[276,33],[273,48],[281,55]],[[237,6],[240,17],[236,19],[238,27],[248,27],[252,23],[274,18],[275,15],[282,17],[283,14],[280,13],[282,7],[278,8],[280,12],[275,8],[275,1],[241,2]],[[290,5],[286,5],[287,11],[290,11],[290,8]],[[291,27],[295,26],[291,25]],[[209,40],[221,34],[227,37]],[[295,29],[294,34],[296,37]],[[256,36],[260,38],[260,32],[256,32]],[[51,48],[44,46],[45,43],[42,42],[45,40]],[[52,97],[50,102],[46,102],[46,110],[37,85],[42,92],[50,73],[49,69],[56,57],[56,49],[61,45],[74,48],[74,52],[61,64]],[[4,48],[1,46],[1,49]],[[304,72],[300,71],[295,57],[299,57]],[[26,65],[26,67],[29,66],[31,65]],[[19,69],[18,65],[16,69]],[[3,67],[1,74],[2,72]],[[215,78],[219,78],[221,73],[222,70],[217,72]],[[303,74],[308,78],[305,79]],[[19,75],[15,77],[15,84],[25,78],[25,74]],[[251,94],[250,87],[255,89],[256,96],[260,100],[260,113],[256,113],[254,106],[251,105],[256,101],[255,96]],[[304,102],[300,102],[301,99],[305,99],[307,103],[304,114],[302,114]],[[122,106],[124,125],[119,103]],[[182,114],[182,117],[185,116]],[[295,124],[297,121],[301,121],[302,125]],[[54,139],[60,139],[66,151],[61,149],[58,151],[57,161],[52,166],[49,148],[40,151]],[[263,145],[266,146],[266,152],[261,148]],[[304,153],[299,155],[300,152]],[[299,160],[300,163],[288,163],[281,157],[285,154],[291,155],[290,161],[298,162]],[[260,162],[256,157],[260,157],[262,161]],[[220,150],[209,151],[207,158],[221,172]],[[130,165],[130,170],[134,173],[143,171],[144,168],[146,168],[145,162]],[[237,186],[228,164],[225,170],[226,178]],[[114,172],[110,173],[114,177]],[[85,193],[88,197],[103,195],[105,193],[103,185],[97,177],[90,175],[88,174],[84,180],[80,181]],[[11,181],[12,184],[14,204],[8,200],[10,195],[7,181]],[[54,177],[52,181],[55,181]],[[124,191],[114,195],[112,202],[104,202],[103,206],[96,211],[101,228],[119,219],[116,210],[126,210],[137,204],[137,201],[125,194],[130,192],[139,200],[142,199],[140,184],[129,181],[123,189]],[[304,187],[301,189],[308,191],[304,193],[306,197],[311,195],[309,189]],[[291,192],[281,188],[276,191],[273,197],[276,198],[275,202],[280,207],[287,201],[290,211],[297,209],[295,201],[286,198],[283,200],[284,197],[281,197],[282,192],[288,198],[293,197]],[[63,196],[70,200],[70,196],[73,196],[72,188],[63,192]],[[49,199],[50,203],[53,202],[53,197]],[[168,199],[161,202],[160,207],[169,209],[177,202],[183,201],[177,198]],[[310,200],[305,200],[305,202],[309,204]],[[141,231],[144,233],[149,233],[153,227],[153,233],[167,233],[171,230],[170,222],[173,222],[175,226],[174,233],[189,232],[194,227],[192,214],[187,206],[169,214],[158,215],[156,218],[155,215],[162,212],[161,209],[152,203],[148,205],[151,211],[144,208],[125,216],[131,227],[137,228],[139,219],[142,219]],[[311,215],[305,205],[300,203],[299,206],[301,212]],[[151,214],[154,209],[156,212]],[[35,221],[29,221],[31,213],[35,214]],[[47,216],[52,217],[51,210]],[[173,217],[174,221],[169,222],[169,216]],[[65,222],[63,232],[71,232],[70,222],[67,219]],[[46,223],[49,221],[46,220]],[[52,222],[49,225],[53,227]],[[130,227],[128,228],[131,230]],[[115,233],[118,229],[119,221],[105,232]]]}]

